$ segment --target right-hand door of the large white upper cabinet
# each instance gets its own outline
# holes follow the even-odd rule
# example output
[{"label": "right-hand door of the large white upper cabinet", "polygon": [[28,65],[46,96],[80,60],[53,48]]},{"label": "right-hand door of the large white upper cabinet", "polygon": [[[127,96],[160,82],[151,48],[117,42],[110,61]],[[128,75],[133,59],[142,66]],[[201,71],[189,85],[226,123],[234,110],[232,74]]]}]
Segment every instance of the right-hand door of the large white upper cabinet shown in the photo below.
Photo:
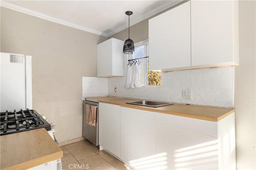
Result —
[{"label": "right-hand door of the large white upper cabinet", "polygon": [[238,1],[192,0],[192,66],[237,65],[238,53]]}]

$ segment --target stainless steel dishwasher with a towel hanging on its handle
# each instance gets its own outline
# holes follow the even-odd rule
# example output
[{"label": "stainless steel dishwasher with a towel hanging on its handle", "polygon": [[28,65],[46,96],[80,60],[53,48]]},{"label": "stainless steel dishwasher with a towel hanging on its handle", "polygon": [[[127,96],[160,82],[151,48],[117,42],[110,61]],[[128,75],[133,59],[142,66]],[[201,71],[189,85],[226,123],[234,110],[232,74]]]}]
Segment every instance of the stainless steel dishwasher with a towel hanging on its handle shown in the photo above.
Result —
[{"label": "stainless steel dishwasher with a towel hanging on its handle", "polygon": [[[96,125],[92,126],[89,125],[88,123],[86,123],[86,104],[88,105],[93,105],[97,107],[97,115],[96,115]],[[99,142],[99,125],[98,125],[98,121],[99,121],[99,103],[98,102],[91,102],[88,100],[84,100],[83,102],[83,106],[84,106],[84,111],[83,111],[83,137],[85,139],[87,139],[88,141],[90,141],[91,143],[93,143],[94,145],[98,146]]]}]

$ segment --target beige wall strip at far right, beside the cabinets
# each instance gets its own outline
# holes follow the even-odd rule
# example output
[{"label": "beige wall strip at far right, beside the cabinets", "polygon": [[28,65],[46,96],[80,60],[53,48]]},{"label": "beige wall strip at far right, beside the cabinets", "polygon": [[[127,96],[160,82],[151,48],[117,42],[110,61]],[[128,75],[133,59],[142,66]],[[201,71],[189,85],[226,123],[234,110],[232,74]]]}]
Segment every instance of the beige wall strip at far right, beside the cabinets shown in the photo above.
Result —
[{"label": "beige wall strip at far right, beside the cabinets", "polygon": [[239,66],[235,67],[236,165],[256,169],[256,1],[239,1]]}]

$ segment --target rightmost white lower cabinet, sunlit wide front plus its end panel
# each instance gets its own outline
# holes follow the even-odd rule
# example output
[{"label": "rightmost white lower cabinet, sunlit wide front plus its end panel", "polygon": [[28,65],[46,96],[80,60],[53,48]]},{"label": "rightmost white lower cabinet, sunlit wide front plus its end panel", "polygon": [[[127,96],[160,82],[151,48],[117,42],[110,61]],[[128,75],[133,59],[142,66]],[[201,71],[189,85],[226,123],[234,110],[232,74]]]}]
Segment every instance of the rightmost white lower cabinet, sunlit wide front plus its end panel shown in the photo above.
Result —
[{"label": "rightmost white lower cabinet, sunlit wide front plus its end panel", "polygon": [[154,113],[155,169],[236,169],[234,122]]}]

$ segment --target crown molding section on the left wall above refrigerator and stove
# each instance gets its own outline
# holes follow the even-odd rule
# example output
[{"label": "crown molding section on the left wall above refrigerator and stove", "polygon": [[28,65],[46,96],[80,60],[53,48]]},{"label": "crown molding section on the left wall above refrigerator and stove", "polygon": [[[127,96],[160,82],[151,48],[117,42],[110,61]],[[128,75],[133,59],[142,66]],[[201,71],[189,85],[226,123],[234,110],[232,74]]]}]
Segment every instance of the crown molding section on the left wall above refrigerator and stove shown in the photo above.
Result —
[{"label": "crown molding section on the left wall above refrigerator and stove", "polygon": [[59,24],[62,24],[62,25],[66,25],[68,27],[73,27],[73,28],[76,28],[76,29],[80,29],[80,30],[83,30],[83,31],[87,31],[87,32],[90,32],[90,33],[94,33],[94,34],[97,34],[97,35],[102,35],[104,37],[108,37],[108,34],[102,32],[102,31],[98,31],[98,30],[95,30],[95,29],[84,27],[82,25],[78,25],[76,23],[72,23],[72,22],[69,22],[69,21],[61,20],[59,18],[48,16],[46,14],[42,14],[40,12],[36,12],[36,11],[30,10],[28,8],[23,8],[21,6],[10,4],[10,3],[5,2],[5,1],[1,1],[0,6],[5,7],[5,8],[9,8],[11,10],[15,10],[15,11],[18,11],[18,12],[22,12],[22,13],[25,13],[25,14],[28,14],[28,15],[31,15],[31,16],[42,18],[44,20],[48,20],[48,21],[52,21],[52,22],[59,23]]}]

